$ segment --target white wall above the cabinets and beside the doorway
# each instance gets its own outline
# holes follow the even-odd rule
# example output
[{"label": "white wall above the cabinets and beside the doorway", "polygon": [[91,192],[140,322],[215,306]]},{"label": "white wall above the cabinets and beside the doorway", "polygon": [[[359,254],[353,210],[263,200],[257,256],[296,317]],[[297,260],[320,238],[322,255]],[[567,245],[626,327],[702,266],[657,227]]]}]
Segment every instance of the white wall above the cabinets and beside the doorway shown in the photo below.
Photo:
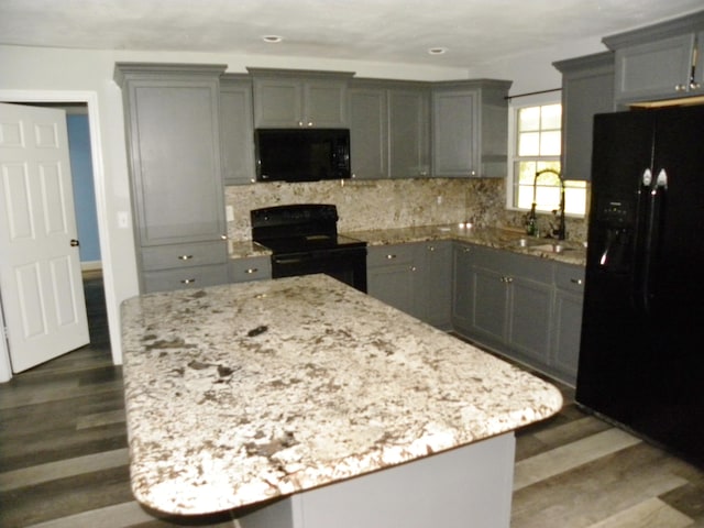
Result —
[{"label": "white wall above the cabinets and beside the doorway", "polygon": [[[547,50],[534,56],[514,57],[483,69],[430,68],[404,64],[358,63],[349,61],[289,59],[283,57],[243,56],[199,53],[147,53],[79,51],[40,47],[0,46],[0,100],[8,95],[53,92],[87,92],[94,98],[90,127],[97,128],[100,152],[95,157],[101,253],[106,270],[106,296],[110,324],[110,341],[116,363],[122,362],[119,324],[120,302],[139,293],[135,253],[131,229],[118,227],[118,212],[129,211],[124,123],[120,88],[113,81],[116,62],[170,62],[227,64],[228,72],[244,73],[248,66],[330,69],[355,72],[359,77],[414,80],[448,80],[473,77],[497,77],[514,80],[512,94],[556,88],[559,74],[553,61],[603,51],[598,41],[568,43],[559,50]],[[31,98],[29,98],[31,99]],[[18,99],[14,99],[15,101]],[[58,99],[57,99],[58,100]],[[96,122],[97,121],[97,122]],[[96,145],[94,145],[96,146]],[[108,262],[106,262],[108,261]],[[0,350],[0,354],[3,351]]]}]

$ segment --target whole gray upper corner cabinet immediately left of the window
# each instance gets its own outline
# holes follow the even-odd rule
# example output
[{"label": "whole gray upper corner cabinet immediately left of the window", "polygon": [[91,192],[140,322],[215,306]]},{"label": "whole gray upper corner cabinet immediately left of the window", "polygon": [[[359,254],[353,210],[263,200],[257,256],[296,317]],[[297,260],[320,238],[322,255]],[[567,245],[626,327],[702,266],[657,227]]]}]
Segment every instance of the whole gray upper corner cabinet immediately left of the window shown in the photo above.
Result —
[{"label": "whole gray upper corner cabinet immediately left of the window", "polygon": [[512,82],[432,85],[432,173],[442,177],[505,177]]}]

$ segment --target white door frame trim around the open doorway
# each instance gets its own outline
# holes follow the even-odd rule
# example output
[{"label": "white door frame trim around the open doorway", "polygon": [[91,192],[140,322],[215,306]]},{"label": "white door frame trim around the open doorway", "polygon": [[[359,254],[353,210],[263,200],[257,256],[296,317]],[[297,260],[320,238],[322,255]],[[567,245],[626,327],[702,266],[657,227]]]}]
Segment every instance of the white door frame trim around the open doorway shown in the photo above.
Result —
[{"label": "white door frame trim around the open doorway", "polygon": [[[114,280],[112,271],[112,254],[110,251],[110,232],[108,230],[108,200],[106,195],[106,177],[102,161],[102,143],[100,141],[100,117],[98,112],[98,94],[85,90],[0,90],[0,101],[9,103],[21,102],[79,102],[88,107],[88,124],[90,132],[90,151],[94,172],[94,187],[96,211],[98,215],[98,237],[100,243],[100,257],[102,262],[103,287],[106,306],[108,311],[108,329],[110,334],[110,350],[112,362],[116,360],[119,342],[113,339],[114,329],[119,327],[119,314],[116,310]],[[1,301],[1,299],[0,299]],[[0,315],[0,328],[4,328],[4,321]],[[12,378],[10,367],[10,352],[8,350],[4,332],[0,332],[0,383]]]}]

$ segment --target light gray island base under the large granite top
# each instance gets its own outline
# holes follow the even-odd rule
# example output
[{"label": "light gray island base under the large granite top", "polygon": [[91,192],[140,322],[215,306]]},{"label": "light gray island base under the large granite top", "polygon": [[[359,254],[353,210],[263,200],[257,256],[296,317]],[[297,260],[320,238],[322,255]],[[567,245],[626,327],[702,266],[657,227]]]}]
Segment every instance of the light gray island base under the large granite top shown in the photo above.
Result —
[{"label": "light gray island base under the large granite top", "polygon": [[239,518],[242,528],[508,528],[513,432],[301,492]]}]

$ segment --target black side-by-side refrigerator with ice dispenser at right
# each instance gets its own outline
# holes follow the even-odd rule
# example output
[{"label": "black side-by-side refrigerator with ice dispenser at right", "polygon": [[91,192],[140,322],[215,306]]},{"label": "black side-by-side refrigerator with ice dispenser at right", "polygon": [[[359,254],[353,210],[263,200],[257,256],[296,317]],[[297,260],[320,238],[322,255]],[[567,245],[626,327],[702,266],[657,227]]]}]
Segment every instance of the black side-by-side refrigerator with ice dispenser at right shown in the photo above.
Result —
[{"label": "black side-by-side refrigerator with ice dispenser at right", "polygon": [[598,114],[576,403],[704,466],[704,107]]}]

